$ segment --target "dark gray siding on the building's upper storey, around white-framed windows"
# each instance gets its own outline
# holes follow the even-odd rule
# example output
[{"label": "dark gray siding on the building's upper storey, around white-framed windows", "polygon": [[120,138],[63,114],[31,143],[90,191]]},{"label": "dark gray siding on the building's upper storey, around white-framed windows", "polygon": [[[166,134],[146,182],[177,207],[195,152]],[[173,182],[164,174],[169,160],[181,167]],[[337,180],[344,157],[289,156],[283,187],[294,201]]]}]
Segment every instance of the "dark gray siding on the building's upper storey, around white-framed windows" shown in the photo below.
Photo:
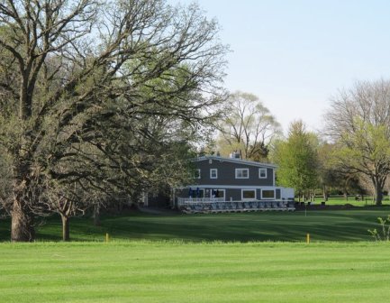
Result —
[{"label": "dark gray siding on the building's upper storey, around white-framed windows", "polygon": [[[194,179],[195,184],[199,185],[238,185],[238,186],[273,186],[274,169],[267,169],[267,178],[260,179],[258,174],[259,167],[244,163],[233,163],[220,160],[204,160],[194,163],[196,169],[201,170],[201,178]],[[218,178],[210,178],[210,170],[218,171]],[[236,169],[248,169],[249,179],[236,179]]]}]

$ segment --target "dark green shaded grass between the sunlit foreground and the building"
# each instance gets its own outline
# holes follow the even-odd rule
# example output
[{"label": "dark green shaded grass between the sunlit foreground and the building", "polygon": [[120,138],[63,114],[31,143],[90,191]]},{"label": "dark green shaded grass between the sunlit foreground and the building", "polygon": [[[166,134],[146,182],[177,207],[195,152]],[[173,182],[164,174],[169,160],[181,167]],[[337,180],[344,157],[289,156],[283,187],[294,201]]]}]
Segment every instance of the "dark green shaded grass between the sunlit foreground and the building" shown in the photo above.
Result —
[{"label": "dark green shaded grass between the sunlit foreground and the building", "polygon": [[[114,240],[304,242],[306,234],[311,234],[313,241],[356,242],[370,241],[367,229],[377,228],[377,217],[388,214],[390,207],[215,215],[133,212],[104,217],[101,226],[94,226],[91,219],[73,218],[70,230],[74,241],[104,241],[108,233]],[[9,240],[9,228],[9,221],[0,221],[0,240]],[[50,218],[38,226],[37,240],[60,241],[60,219]]]}]

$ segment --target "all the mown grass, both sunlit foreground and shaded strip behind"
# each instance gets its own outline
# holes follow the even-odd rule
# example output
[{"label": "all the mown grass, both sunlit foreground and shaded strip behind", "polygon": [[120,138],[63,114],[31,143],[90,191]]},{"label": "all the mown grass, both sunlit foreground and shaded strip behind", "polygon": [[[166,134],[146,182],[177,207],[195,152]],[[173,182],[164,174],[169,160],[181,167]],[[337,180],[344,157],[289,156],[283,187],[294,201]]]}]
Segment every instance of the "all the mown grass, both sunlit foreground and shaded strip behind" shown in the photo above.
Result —
[{"label": "all the mown grass, both sunlit foreground and shaded strip behind", "polygon": [[[39,242],[0,243],[0,302],[385,302],[390,243],[368,242],[367,229],[389,213],[134,212],[98,227],[74,218],[78,242],[42,242],[60,239],[53,217],[37,228]],[[8,229],[0,221],[1,239]]]}]

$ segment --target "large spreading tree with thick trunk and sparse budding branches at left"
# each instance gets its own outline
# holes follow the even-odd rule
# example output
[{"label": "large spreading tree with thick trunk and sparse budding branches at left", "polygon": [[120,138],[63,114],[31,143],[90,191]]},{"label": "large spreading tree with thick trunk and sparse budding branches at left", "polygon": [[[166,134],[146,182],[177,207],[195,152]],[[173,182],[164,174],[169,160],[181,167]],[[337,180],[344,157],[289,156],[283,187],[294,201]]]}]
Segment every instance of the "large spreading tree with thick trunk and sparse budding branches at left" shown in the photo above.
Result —
[{"label": "large spreading tree with thick trunk and sparse budding branches at left", "polygon": [[136,194],[168,168],[161,155],[177,142],[155,140],[145,119],[197,127],[219,101],[226,48],[197,5],[6,0],[0,29],[0,68],[9,73],[0,78],[0,144],[13,168],[13,241],[33,239],[49,185],[58,193],[87,183]]}]

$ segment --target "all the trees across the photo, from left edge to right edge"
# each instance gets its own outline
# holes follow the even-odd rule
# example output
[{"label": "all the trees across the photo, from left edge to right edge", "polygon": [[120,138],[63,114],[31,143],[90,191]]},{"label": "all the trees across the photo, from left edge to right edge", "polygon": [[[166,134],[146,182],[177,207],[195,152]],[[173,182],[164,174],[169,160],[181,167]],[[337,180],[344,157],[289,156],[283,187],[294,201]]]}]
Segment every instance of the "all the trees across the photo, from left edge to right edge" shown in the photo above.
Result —
[{"label": "all the trees across the photo, from left edge to right edge", "polygon": [[341,91],[322,135],[296,122],[284,138],[257,96],[223,88],[218,32],[196,4],[1,2],[0,214],[12,241],[33,241],[54,213],[68,240],[72,216],[185,184],[200,146],[275,161],[277,182],[302,195],[364,181],[381,204],[389,83]]}]

